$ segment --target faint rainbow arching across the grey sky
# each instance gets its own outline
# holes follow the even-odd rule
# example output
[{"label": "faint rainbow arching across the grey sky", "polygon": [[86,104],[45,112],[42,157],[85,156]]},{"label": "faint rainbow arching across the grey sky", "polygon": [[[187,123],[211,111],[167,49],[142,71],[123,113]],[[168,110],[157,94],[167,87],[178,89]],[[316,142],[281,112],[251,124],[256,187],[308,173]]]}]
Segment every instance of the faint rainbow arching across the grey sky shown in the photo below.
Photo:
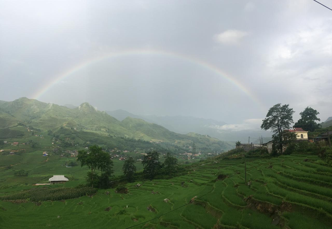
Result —
[{"label": "faint rainbow arching across the grey sky", "polygon": [[52,86],[59,83],[60,81],[63,81],[64,79],[70,77],[76,72],[81,71],[84,68],[87,68],[90,65],[96,64],[100,61],[103,61],[105,59],[110,58],[118,58],[123,56],[133,56],[133,55],[161,55],[161,56],[168,56],[172,58],[181,59],[183,61],[189,62],[191,64],[200,66],[220,77],[227,80],[229,83],[235,85],[237,88],[239,88],[241,91],[243,91],[245,94],[247,94],[252,101],[254,101],[256,104],[258,104],[261,108],[263,108],[263,105],[261,102],[257,99],[257,97],[247,89],[247,87],[243,86],[238,80],[236,80],[231,75],[227,74],[226,72],[222,71],[221,69],[217,68],[216,66],[209,64],[201,59],[176,53],[176,52],[170,52],[165,50],[155,50],[155,49],[133,49],[133,50],[126,50],[126,51],[120,51],[120,52],[111,52],[107,53],[92,59],[88,59],[86,61],[83,61],[72,68],[64,71],[58,76],[55,76],[54,79],[52,79],[47,85],[43,86],[41,90],[37,91],[32,97],[35,99],[39,99],[41,95],[43,95],[47,90],[49,90]]}]

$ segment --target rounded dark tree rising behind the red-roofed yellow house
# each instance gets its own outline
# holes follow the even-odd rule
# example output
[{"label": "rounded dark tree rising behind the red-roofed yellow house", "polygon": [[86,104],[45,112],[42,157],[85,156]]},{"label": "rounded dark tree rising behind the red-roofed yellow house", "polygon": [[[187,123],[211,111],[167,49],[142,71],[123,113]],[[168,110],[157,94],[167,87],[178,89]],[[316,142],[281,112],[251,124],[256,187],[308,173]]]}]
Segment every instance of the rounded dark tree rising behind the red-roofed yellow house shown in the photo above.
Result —
[{"label": "rounded dark tree rising behind the red-roofed yellow house", "polygon": [[320,124],[315,121],[320,121],[317,118],[319,112],[311,107],[306,107],[304,111],[300,112],[301,118],[295,123],[294,127],[301,127],[303,130],[313,132],[315,129],[320,128]]}]

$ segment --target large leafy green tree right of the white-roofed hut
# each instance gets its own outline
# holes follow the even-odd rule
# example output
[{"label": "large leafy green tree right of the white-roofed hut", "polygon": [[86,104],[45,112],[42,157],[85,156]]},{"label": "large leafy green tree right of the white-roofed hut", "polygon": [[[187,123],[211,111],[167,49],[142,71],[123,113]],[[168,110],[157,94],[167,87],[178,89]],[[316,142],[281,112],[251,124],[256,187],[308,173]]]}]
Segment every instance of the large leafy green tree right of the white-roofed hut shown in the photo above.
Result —
[{"label": "large leafy green tree right of the white-roofed hut", "polygon": [[[107,152],[104,152],[101,147],[97,145],[90,146],[89,149],[79,150],[77,155],[77,160],[81,162],[81,167],[88,166],[91,170],[91,186],[93,188],[94,176],[96,169],[102,172],[100,179],[103,183],[109,184],[109,178],[113,174],[113,161]],[[102,184],[105,186],[105,184]]]}]

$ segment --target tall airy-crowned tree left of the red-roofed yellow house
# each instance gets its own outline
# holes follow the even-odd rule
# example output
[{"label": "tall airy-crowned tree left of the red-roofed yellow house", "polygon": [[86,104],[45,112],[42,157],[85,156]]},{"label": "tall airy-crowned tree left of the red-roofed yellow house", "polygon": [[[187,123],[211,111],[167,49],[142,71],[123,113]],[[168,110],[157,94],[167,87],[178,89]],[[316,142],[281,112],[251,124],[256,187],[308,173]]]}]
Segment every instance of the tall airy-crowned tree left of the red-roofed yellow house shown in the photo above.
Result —
[{"label": "tall airy-crowned tree left of the red-roofed yellow house", "polygon": [[283,154],[283,145],[287,141],[287,138],[283,139],[283,134],[290,135],[285,130],[290,128],[294,112],[292,108],[289,108],[289,104],[281,105],[281,103],[278,103],[269,109],[261,125],[261,129],[271,130],[274,133],[272,137],[274,140],[278,140],[281,154]]}]

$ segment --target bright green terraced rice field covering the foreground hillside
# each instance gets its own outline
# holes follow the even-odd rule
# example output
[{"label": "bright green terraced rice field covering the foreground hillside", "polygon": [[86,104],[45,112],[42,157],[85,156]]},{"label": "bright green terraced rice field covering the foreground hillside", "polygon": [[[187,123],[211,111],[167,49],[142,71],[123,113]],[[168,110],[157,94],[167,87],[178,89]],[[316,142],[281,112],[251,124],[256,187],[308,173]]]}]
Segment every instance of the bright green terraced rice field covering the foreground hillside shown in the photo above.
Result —
[{"label": "bright green terraced rice field covering the foreground hillside", "polygon": [[[127,184],[128,194],[99,190],[92,198],[40,205],[0,201],[0,227],[331,228],[332,170],[316,160],[304,155],[246,160],[250,185],[245,160],[221,160],[170,180]],[[220,174],[226,176],[217,179]]]}]

